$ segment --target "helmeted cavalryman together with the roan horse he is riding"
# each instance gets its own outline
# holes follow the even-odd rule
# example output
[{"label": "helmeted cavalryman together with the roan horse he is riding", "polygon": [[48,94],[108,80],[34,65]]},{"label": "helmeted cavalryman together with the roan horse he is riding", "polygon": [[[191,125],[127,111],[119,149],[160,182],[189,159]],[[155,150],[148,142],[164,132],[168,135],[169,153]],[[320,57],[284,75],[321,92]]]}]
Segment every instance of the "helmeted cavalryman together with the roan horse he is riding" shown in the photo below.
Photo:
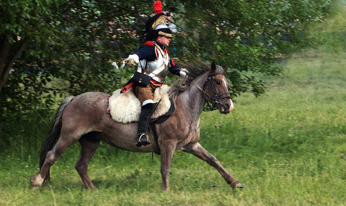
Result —
[{"label": "helmeted cavalryman together with the roan horse he is riding", "polygon": [[[49,169],[65,149],[75,141],[81,144],[81,153],[75,169],[87,189],[95,188],[87,169],[100,141],[131,152],[155,151],[153,147],[134,146],[136,144],[140,147],[150,143],[145,132],[149,114],[156,105],[152,92],[163,84],[163,78],[168,70],[179,76],[186,74],[183,69],[173,63],[166,50],[171,34],[163,23],[165,17],[167,16],[162,13],[149,19],[147,26],[151,27],[146,31],[146,40],[148,40],[146,45],[127,58],[129,64],[139,67],[138,72],[122,89],[124,93],[135,85],[136,94],[143,104],[138,142],[135,143],[134,139],[137,126],[135,123],[121,123],[108,117],[105,109],[108,106],[109,94],[87,92],[78,96],[69,96],[57,109],[52,130],[40,149],[39,173],[30,176],[33,188],[39,188],[49,182]],[[155,125],[161,150],[162,189],[169,189],[171,161],[174,151],[178,149],[209,163],[220,172],[231,187],[243,188],[240,182],[198,143],[200,116],[207,102],[212,104],[211,110],[218,109],[221,114],[228,114],[234,108],[225,77],[227,67],[222,68],[215,62],[211,63],[210,67],[202,62],[195,62],[186,64],[186,68],[189,71],[189,78],[182,79],[182,84],[173,84],[170,91],[172,102],[179,109],[169,119]],[[141,86],[144,82],[144,86]]]}]

